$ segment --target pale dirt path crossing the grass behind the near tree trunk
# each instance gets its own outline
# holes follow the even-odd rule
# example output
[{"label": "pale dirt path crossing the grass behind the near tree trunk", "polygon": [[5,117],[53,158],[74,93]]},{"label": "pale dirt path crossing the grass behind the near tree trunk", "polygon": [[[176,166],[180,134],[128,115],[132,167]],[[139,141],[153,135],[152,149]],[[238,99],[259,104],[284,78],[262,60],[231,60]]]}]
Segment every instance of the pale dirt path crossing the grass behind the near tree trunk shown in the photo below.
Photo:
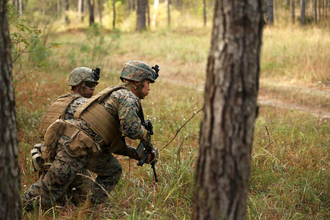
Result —
[{"label": "pale dirt path crossing the grass behind the near tree trunk", "polygon": [[[200,92],[204,84],[196,85],[189,80],[184,83],[178,79],[165,78],[164,82],[176,86],[189,86]],[[330,119],[330,87],[323,84],[302,84],[274,80],[260,80],[258,94],[260,106],[297,110],[313,115],[320,120]]]}]

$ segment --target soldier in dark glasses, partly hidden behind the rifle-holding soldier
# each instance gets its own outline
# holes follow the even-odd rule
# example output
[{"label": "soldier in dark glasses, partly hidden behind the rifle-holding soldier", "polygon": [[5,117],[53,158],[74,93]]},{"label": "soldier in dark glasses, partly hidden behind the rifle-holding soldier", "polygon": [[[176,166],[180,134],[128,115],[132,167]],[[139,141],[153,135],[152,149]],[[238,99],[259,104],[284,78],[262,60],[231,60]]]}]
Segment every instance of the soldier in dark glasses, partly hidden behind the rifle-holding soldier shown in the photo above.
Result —
[{"label": "soldier in dark glasses, partly hidden behind the rifle-holding soldier", "polygon": [[[71,120],[74,118],[74,114],[78,107],[81,106],[87,98],[93,95],[95,86],[98,84],[97,74],[98,73],[93,72],[92,69],[86,67],[78,67],[72,70],[67,82],[67,84],[71,86],[72,92],[70,94],[57,97],[57,99],[49,107],[47,113],[41,119],[39,136],[41,137],[42,142],[41,144],[36,145],[37,147],[40,146],[40,149],[36,148],[31,151],[33,166],[36,171],[39,171],[40,178],[45,175],[50,164],[54,160],[54,158],[43,158],[43,160],[36,160],[38,158],[41,159],[41,155],[45,150],[43,141],[45,130],[57,118],[63,118],[64,120]],[[41,165],[43,161],[47,163]],[[37,164],[37,162],[41,164]],[[72,183],[66,188],[66,192],[57,199],[57,202],[64,202],[67,200],[70,200],[74,204],[85,202],[87,192],[89,192],[92,186],[92,181],[90,179],[92,176],[85,168],[82,168],[79,173],[82,175],[76,176]]]}]

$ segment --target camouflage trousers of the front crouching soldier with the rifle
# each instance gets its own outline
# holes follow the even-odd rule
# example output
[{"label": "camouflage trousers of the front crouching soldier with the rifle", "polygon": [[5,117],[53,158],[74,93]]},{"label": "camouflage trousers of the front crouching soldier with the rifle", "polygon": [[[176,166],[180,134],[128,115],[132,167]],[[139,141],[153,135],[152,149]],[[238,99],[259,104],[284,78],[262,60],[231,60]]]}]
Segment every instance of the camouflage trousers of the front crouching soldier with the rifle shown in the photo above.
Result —
[{"label": "camouflage trousers of the front crouching soldier with the rifle", "polygon": [[23,208],[30,211],[34,208],[34,198],[37,205],[47,207],[57,200],[76,179],[82,168],[97,174],[93,187],[87,194],[92,202],[102,203],[108,197],[119,181],[122,167],[112,154],[100,153],[92,160],[91,155],[82,157],[69,156],[61,143],[69,139],[62,135],[57,144],[57,155],[46,175],[30,186],[22,195]]}]

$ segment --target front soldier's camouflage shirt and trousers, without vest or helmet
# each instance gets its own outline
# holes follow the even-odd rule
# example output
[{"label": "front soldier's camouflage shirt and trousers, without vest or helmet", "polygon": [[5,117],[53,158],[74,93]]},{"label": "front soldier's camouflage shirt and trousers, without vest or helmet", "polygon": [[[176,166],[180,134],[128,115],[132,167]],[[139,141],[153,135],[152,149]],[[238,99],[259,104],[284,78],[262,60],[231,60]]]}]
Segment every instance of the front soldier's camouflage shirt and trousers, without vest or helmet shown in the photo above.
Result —
[{"label": "front soldier's camouflage shirt and trousers, without vest or helmet", "polygon": [[[143,139],[146,131],[141,125],[139,118],[141,101],[130,86],[127,84],[123,86],[125,88],[120,88],[108,94],[100,104],[118,122],[122,134],[131,139]],[[70,120],[68,122],[81,128],[95,139],[95,133],[85,121]],[[66,135],[60,137],[57,143],[55,161],[48,172],[44,178],[34,183],[24,192],[24,209],[33,209],[32,200],[39,198],[39,196],[41,196],[42,206],[55,201],[76,178],[77,173],[82,168],[97,174],[93,187],[87,194],[87,199],[92,202],[105,202],[108,192],[111,192],[118,183],[122,173],[122,166],[112,154],[102,151],[96,156],[88,154],[81,157],[72,157],[67,154],[67,149],[70,146],[70,142],[67,142],[67,140],[69,140],[69,137]]]}]

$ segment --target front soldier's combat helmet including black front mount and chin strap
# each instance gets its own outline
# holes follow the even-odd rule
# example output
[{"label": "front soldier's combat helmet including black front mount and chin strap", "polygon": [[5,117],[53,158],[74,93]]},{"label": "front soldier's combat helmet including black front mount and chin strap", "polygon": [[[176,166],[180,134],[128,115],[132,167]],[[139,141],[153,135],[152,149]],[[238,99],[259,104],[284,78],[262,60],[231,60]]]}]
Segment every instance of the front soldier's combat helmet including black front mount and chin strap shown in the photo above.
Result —
[{"label": "front soldier's combat helmet including black front mount and chin strap", "polygon": [[[124,64],[124,67],[120,73],[120,80],[123,83],[126,83],[131,87],[133,87],[134,89],[138,90],[140,92],[140,98],[144,99],[145,95],[142,93],[144,82],[146,79],[148,79],[150,80],[151,83],[154,83],[158,77],[158,71],[159,71],[158,65],[155,65],[155,67],[151,68],[145,62],[132,60]],[[142,84],[136,86],[127,80],[142,82]]]}]

